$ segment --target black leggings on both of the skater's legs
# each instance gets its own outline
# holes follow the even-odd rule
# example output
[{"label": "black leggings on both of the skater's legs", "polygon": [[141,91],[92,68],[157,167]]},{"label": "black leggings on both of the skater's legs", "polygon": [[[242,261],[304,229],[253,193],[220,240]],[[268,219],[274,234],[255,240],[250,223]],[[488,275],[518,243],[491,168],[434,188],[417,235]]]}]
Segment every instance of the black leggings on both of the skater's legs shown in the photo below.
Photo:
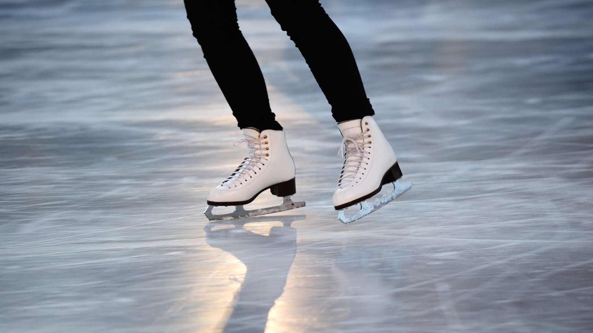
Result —
[{"label": "black leggings on both of the skater's legs", "polygon": [[[374,114],[352,50],[318,0],[266,0],[301,51],[336,121]],[[237,23],[234,0],[184,0],[204,58],[240,128],[281,130],[257,60]]]}]

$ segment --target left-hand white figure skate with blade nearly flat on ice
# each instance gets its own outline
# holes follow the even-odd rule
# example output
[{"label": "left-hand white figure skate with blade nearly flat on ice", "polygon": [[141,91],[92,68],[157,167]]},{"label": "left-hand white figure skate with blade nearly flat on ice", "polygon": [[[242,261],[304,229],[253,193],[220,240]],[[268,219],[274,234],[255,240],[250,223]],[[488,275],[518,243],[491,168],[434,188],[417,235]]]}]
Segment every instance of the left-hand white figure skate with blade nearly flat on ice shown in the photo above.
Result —
[{"label": "left-hand white figure skate with blade nearly flat on ice", "polygon": [[[208,194],[208,208],[204,214],[209,220],[228,220],[241,217],[258,216],[282,212],[305,206],[304,201],[291,200],[295,194],[295,163],[286,146],[286,137],[281,130],[243,129],[245,139],[242,142],[249,148],[249,157],[232,172],[227,180],[221,182]],[[245,210],[244,204],[251,203],[260,193],[270,192],[283,201],[278,206],[263,209]],[[227,214],[212,213],[215,206],[236,206],[235,211]]]}]

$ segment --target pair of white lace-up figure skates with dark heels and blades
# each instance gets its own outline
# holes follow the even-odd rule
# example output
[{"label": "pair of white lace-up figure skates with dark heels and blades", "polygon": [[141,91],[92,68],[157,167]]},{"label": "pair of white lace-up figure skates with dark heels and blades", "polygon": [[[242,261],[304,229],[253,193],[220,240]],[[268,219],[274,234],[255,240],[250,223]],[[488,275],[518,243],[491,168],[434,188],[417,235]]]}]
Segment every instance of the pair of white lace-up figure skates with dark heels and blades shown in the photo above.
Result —
[{"label": "pair of white lace-up figure skates with dark heels and blades", "polygon": [[[358,220],[384,206],[412,187],[412,183],[401,184],[401,170],[396,154],[385,139],[372,116],[339,123],[342,145],[339,156],[344,158],[342,171],[333,195],[333,205],[343,223]],[[221,184],[208,194],[208,208],[204,212],[209,220],[225,220],[262,214],[282,212],[305,206],[304,201],[292,201],[295,188],[295,164],[286,145],[285,133],[281,130],[243,129],[245,139],[234,145],[246,143],[249,156]],[[369,204],[365,200],[379,193],[382,185],[392,183],[394,190]],[[270,192],[283,201],[278,206],[264,209],[245,210],[243,205],[251,203],[260,193]],[[364,202],[362,202],[364,201]],[[344,210],[355,204],[361,210],[352,216],[345,216]],[[215,206],[237,206],[227,214],[214,214]]]}]

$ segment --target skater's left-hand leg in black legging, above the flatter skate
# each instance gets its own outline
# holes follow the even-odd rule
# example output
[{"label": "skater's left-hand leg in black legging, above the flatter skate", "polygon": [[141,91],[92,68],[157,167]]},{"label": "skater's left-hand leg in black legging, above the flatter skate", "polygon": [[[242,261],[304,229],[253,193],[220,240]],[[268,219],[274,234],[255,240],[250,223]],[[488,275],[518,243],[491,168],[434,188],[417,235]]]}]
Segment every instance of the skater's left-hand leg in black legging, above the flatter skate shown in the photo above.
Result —
[{"label": "skater's left-hand leg in black legging, above the flatter skate", "polygon": [[256,57],[237,23],[233,0],[184,0],[204,58],[242,129],[282,130],[270,109]]}]

